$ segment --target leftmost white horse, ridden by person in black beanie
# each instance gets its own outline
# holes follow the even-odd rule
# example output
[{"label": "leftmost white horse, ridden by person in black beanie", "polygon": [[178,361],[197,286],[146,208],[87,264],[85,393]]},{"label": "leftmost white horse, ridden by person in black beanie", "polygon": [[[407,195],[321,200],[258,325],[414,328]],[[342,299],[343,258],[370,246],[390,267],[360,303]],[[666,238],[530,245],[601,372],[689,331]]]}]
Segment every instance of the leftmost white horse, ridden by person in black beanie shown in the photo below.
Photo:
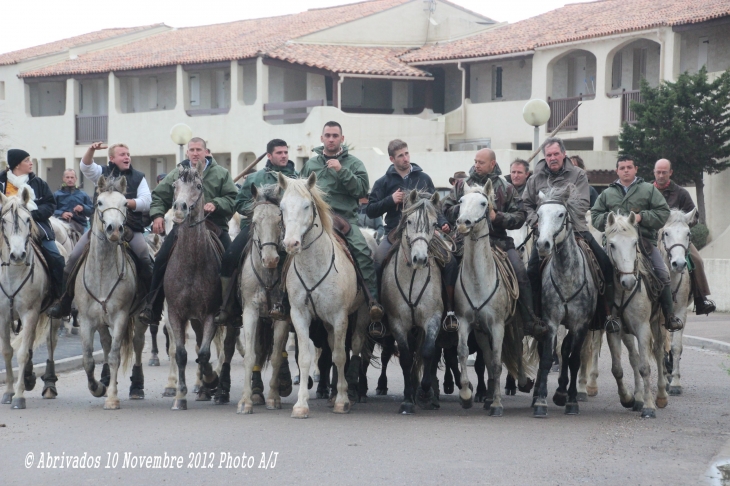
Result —
[{"label": "leftmost white horse, ridden by person in black beanie", "polygon": [[[0,341],[7,382],[3,404],[11,408],[25,408],[25,391],[35,387],[33,350],[48,336],[48,361],[46,362],[46,386],[44,398],[56,397],[56,376],[53,371],[55,329],[49,332],[50,319],[41,314],[41,305],[48,294],[50,278],[43,269],[32,239],[39,236],[39,229],[28,208],[30,193],[23,189],[20,194],[5,197],[0,193],[2,225],[0,233]],[[17,326],[15,321],[17,320]],[[18,337],[11,343],[11,331]],[[13,348],[16,348],[19,373],[13,384]],[[48,379],[50,378],[50,379]],[[49,386],[50,383],[50,386]]]}]

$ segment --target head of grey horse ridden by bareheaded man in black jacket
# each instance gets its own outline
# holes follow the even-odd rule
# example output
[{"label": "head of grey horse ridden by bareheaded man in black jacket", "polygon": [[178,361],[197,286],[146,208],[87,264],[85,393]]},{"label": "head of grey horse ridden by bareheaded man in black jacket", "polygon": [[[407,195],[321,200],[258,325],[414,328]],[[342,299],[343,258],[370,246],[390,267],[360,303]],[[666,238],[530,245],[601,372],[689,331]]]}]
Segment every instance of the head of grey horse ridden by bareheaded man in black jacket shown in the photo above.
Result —
[{"label": "head of grey horse ridden by bareheaded man in black jacket", "polygon": [[428,264],[428,248],[438,228],[436,205],[439,194],[413,189],[404,200],[403,214],[398,225],[401,241],[410,248],[411,264],[419,269]]}]

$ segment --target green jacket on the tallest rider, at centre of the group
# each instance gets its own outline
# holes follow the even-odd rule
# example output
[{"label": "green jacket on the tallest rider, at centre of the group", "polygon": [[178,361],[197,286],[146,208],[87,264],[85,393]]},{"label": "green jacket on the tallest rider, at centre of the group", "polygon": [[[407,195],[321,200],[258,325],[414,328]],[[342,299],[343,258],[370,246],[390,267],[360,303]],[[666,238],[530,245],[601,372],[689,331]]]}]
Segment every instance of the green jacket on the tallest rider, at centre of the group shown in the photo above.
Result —
[{"label": "green jacket on the tallest rider, at centre of the group", "polygon": [[314,149],[317,156],[304,164],[301,176],[309,177],[312,172],[317,174],[317,187],[324,192],[327,204],[340,216],[357,221],[359,200],[367,197],[370,190],[370,179],[365,165],[360,159],[350,155],[346,147],[342,147],[342,153],[337,156],[342,168],[337,172],[327,168],[327,159],[322,150],[323,147]]}]

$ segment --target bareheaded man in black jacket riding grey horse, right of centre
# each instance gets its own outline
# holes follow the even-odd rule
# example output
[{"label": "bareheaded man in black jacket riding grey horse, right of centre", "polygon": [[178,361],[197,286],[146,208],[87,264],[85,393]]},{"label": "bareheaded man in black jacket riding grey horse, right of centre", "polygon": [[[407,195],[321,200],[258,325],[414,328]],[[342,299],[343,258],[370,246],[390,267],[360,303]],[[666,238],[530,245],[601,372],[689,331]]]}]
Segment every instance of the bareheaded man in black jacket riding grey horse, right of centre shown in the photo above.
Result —
[{"label": "bareheaded man in black jacket riding grey horse, right of centre", "polygon": [[[385,217],[385,235],[375,251],[375,268],[377,273],[382,271],[382,265],[385,257],[393,242],[387,237],[400,223],[401,212],[403,210],[403,201],[408,197],[408,193],[413,189],[423,190],[429,194],[436,192],[431,178],[423,172],[420,166],[411,163],[411,155],[408,152],[408,145],[403,140],[393,140],[388,144],[388,155],[393,164],[385,172],[385,175],[375,181],[373,190],[368,197],[367,215],[370,218],[380,217],[387,213]],[[439,211],[438,226],[444,233],[449,233],[451,227],[446,218]],[[451,272],[448,269],[451,268]],[[455,259],[450,259],[449,263],[444,267],[444,275],[449,273],[457,273],[459,271],[458,263]],[[446,310],[451,315],[454,314],[454,284],[447,282],[444,278],[444,286],[446,288]],[[449,320],[448,322],[456,322]],[[456,329],[453,329],[456,330]]]}]

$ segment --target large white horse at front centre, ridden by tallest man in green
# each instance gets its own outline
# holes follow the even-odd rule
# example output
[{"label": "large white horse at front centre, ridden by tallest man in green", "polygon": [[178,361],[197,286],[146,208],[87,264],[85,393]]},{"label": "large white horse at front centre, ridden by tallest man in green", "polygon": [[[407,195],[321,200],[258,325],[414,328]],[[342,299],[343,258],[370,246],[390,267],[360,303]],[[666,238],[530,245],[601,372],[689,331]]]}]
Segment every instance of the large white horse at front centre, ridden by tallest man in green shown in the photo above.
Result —
[{"label": "large white horse at front centre, ridden by tallest man in green", "polygon": [[[348,383],[343,378],[348,376],[345,371],[348,316],[357,312],[350,360],[350,368],[355,370],[355,392],[362,362],[359,354],[364,348],[370,318],[363,292],[358,289],[355,268],[334,237],[330,207],[316,183],[314,173],[307,180],[292,180],[279,173],[279,186],[285,190],[280,204],[285,227],[283,243],[291,258],[285,283],[291,303],[291,320],[299,341],[300,374],[309,376],[309,324],[312,319],[319,318],[327,329],[339,376],[333,411],[347,413],[350,400]],[[309,416],[308,400],[307,387],[300,386],[292,417]]]}]

